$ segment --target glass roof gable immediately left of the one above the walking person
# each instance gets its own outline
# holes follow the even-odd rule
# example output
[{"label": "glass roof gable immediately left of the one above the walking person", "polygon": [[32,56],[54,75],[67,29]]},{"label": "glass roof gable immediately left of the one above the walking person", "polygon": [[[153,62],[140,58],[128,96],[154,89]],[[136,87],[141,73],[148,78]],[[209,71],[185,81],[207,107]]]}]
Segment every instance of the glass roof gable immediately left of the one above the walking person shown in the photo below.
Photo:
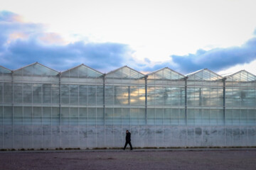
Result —
[{"label": "glass roof gable immediately left of the one above the walking person", "polygon": [[61,77],[101,77],[103,74],[85,64],[80,64],[77,67],[61,72],[60,75]]}]

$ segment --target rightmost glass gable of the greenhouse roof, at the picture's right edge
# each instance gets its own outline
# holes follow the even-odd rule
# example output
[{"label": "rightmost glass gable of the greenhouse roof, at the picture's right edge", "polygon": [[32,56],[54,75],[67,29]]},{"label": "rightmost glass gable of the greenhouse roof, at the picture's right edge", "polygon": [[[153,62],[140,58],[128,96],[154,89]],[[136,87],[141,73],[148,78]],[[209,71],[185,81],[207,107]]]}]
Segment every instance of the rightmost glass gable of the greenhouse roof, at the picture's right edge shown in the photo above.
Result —
[{"label": "rightmost glass gable of the greenhouse roof, at the picture's right edge", "polygon": [[227,81],[255,81],[256,76],[245,70],[241,70],[226,77]]}]

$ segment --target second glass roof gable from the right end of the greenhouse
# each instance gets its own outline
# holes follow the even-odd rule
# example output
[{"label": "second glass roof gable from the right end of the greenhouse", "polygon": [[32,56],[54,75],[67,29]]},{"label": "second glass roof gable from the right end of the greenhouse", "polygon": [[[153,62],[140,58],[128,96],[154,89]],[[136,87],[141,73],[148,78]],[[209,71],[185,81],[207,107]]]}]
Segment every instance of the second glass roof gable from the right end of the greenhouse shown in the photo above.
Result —
[{"label": "second glass roof gable from the right end of the greenhouse", "polygon": [[197,81],[215,81],[218,79],[223,79],[219,74],[210,71],[209,69],[201,69],[197,72],[186,75],[188,80],[197,80]]}]

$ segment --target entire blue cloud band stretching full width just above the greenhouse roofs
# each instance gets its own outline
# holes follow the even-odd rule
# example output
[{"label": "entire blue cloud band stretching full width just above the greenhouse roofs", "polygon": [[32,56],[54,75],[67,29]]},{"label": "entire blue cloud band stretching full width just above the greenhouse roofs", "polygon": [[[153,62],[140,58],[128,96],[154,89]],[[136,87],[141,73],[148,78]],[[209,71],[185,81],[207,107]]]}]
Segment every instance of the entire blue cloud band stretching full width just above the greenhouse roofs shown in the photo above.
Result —
[{"label": "entire blue cloud band stretching full width just above the greenhouse roofs", "polygon": [[134,51],[129,45],[86,41],[66,42],[58,33],[48,33],[41,23],[28,23],[16,13],[0,11],[0,65],[9,69],[40,62],[63,71],[83,63],[101,72],[128,65],[141,72],[169,67],[188,74],[203,68],[219,72],[256,60],[255,37],[240,47],[199,49],[195,54],[171,55],[164,62],[137,60],[132,57]]}]

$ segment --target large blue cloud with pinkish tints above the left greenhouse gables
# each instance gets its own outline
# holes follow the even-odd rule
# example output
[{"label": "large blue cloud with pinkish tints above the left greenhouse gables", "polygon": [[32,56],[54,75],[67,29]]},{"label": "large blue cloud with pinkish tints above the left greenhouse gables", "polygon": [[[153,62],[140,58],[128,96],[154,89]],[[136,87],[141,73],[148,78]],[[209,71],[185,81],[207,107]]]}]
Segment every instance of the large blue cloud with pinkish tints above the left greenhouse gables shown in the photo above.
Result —
[{"label": "large blue cloud with pinkish tints above the left greenhouse gables", "polygon": [[22,22],[20,18],[16,13],[0,11],[0,64],[9,69],[40,62],[63,71],[84,63],[105,72],[123,66],[131,58],[128,45],[66,43],[60,35],[47,33],[42,24]]}]

